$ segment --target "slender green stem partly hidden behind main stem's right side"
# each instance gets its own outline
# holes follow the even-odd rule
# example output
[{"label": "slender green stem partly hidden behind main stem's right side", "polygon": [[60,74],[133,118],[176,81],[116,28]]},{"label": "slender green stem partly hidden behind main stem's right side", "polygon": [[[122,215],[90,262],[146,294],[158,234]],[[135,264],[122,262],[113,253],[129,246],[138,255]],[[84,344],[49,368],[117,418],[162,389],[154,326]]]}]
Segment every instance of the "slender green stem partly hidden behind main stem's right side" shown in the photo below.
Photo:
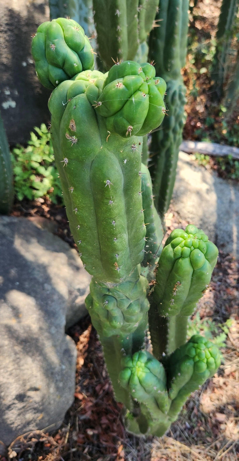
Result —
[{"label": "slender green stem partly hidden behind main stem's right side", "polygon": [[150,172],[143,163],[141,165],[141,176],[143,213],[146,225],[146,241],[142,266],[148,267],[150,279],[152,279],[157,259],[162,251],[161,244],[164,232],[161,219],[159,218],[154,206]]}]

